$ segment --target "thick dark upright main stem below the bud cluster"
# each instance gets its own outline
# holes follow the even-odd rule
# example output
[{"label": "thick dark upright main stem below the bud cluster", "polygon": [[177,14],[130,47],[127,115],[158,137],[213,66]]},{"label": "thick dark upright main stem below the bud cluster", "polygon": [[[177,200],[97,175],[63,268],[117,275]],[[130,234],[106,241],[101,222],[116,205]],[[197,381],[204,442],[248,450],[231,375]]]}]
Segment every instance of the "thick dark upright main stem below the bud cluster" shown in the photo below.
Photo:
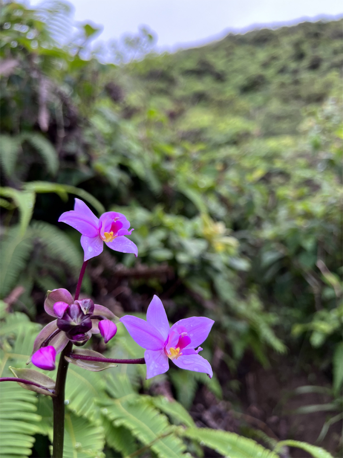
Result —
[{"label": "thick dark upright main stem below the bud cluster", "polygon": [[63,458],[63,442],[64,442],[64,391],[66,386],[66,378],[68,371],[68,361],[65,359],[65,354],[72,351],[73,344],[68,342],[66,348],[62,351],[60,362],[57,369],[55,395],[53,398],[53,452],[52,458]]}]

